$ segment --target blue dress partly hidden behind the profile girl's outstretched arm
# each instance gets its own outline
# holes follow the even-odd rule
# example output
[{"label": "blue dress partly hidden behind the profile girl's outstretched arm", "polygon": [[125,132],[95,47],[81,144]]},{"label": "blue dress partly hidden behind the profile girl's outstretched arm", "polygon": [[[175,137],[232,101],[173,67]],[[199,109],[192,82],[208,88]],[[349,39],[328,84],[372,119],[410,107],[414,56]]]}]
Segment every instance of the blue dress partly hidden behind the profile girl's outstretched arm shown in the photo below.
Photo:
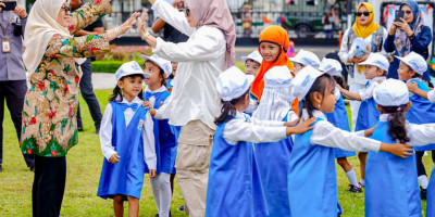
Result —
[{"label": "blue dress partly hidden behind the profile girl's outstretched arm", "polygon": [[[325,116],[327,122],[333,124],[335,127],[346,131],[350,131],[349,119],[347,118],[346,105],[341,94],[338,98],[337,102],[335,103],[334,112],[326,113]],[[335,158],[349,157],[355,155],[356,155],[355,152],[346,151],[339,148],[334,148]]]}]

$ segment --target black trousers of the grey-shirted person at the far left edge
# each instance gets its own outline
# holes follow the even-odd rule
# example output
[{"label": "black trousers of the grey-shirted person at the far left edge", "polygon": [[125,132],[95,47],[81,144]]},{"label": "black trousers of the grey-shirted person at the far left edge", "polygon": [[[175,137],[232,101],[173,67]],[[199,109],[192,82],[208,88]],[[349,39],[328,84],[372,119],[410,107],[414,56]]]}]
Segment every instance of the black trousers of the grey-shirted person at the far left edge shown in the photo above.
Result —
[{"label": "black trousers of the grey-shirted person at the far left edge", "polygon": [[[3,163],[3,119],[4,119],[4,100],[12,122],[15,127],[16,137],[20,140],[22,127],[22,114],[24,97],[27,92],[26,80],[7,80],[0,81],[0,166]],[[16,143],[18,145],[18,142]],[[16,151],[15,149],[13,151]],[[34,155],[23,154],[27,167],[35,165]]]}]

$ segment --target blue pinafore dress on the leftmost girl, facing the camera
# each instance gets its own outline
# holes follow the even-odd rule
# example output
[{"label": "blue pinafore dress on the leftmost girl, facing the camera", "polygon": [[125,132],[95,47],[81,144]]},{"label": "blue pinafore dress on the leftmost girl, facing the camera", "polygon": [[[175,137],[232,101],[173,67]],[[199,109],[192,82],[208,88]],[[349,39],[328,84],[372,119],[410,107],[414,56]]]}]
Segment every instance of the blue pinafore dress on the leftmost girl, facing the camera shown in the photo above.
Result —
[{"label": "blue pinafore dress on the leftmost girl, facing the camera", "polygon": [[128,126],[125,126],[122,103],[110,102],[112,115],[112,145],[121,162],[110,163],[104,158],[97,195],[113,199],[114,195],[140,199],[144,173],[148,169],[144,161],[142,126],[148,110],[139,106]]}]

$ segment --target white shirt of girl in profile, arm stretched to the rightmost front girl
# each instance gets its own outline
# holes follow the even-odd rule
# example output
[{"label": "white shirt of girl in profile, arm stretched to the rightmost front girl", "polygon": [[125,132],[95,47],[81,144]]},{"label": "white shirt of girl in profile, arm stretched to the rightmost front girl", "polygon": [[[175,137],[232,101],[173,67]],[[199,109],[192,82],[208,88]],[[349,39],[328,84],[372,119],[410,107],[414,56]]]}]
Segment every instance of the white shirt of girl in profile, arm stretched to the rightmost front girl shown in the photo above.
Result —
[{"label": "white shirt of girl in profile, arm stretched to the rightmost front girl", "polygon": [[[381,142],[365,138],[363,130],[358,132],[349,132],[334,127],[333,124],[326,120],[325,115],[318,110],[313,112],[313,116],[322,118],[323,120],[318,122],[318,124],[314,126],[310,138],[310,142],[312,144],[340,148],[357,152],[380,151]],[[302,118],[308,118],[307,110],[302,111]]]}]

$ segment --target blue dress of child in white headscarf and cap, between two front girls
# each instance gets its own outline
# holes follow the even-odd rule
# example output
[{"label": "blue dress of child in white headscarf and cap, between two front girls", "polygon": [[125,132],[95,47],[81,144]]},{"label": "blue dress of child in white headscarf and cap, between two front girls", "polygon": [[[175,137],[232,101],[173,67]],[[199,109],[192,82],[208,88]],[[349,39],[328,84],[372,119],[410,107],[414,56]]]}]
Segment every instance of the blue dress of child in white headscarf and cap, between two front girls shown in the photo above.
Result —
[{"label": "blue dress of child in white headscarf and cap, between two front girls", "polygon": [[[287,122],[287,117],[288,115],[284,117],[283,122]],[[270,217],[290,215],[287,176],[291,149],[291,137],[277,142],[256,144],[256,157]]]}]

